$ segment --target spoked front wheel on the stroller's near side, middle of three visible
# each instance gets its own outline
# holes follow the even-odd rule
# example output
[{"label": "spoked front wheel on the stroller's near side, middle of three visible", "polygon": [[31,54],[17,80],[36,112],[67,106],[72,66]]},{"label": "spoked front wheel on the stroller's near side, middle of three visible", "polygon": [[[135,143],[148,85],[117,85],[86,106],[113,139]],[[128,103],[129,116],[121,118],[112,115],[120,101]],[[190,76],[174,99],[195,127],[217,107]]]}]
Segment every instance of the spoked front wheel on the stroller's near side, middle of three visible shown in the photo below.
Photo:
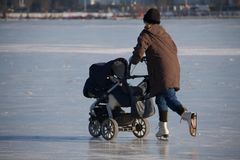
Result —
[{"label": "spoked front wheel on the stroller's near side, middle of three visible", "polygon": [[118,124],[117,122],[112,119],[106,119],[102,123],[101,133],[104,139],[112,140],[117,137],[118,134]]}]

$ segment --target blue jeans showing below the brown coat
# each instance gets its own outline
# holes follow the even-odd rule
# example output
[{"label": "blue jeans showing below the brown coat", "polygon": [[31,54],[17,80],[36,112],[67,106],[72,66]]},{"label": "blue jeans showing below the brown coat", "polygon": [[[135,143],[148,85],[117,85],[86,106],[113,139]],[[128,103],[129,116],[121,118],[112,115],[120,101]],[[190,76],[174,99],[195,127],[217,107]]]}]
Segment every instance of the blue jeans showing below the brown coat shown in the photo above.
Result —
[{"label": "blue jeans showing below the brown coat", "polygon": [[160,112],[167,112],[168,107],[179,115],[182,115],[185,110],[181,102],[178,101],[175,89],[173,88],[166,89],[161,94],[158,94],[155,102],[158,106],[159,115],[161,115]]}]

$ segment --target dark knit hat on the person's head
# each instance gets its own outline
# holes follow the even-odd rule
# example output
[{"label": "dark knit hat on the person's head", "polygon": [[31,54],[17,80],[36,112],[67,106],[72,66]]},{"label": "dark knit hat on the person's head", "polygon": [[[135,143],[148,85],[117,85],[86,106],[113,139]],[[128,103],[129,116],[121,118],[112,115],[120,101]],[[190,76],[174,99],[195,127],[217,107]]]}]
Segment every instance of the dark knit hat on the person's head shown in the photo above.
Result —
[{"label": "dark knit hat on the person's head", "polygon": [[150,24],[160,24],[160,12],[158,9],[151,8],[143,17],[143,21]]}]

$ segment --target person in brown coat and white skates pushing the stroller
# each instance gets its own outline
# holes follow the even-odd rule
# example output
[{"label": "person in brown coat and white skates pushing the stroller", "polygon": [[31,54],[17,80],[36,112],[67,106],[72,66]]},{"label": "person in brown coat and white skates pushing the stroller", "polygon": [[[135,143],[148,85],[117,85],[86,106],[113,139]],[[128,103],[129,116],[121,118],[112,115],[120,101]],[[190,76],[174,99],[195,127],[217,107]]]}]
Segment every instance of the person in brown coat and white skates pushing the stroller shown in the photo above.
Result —
[{"label": "person in brown coat and white skates pushing the stroller", "polygon": [[155,96],[159,111],[159,131],[156,137],[167,140],[169,130],[168,107],[187,121],[189,132],[196,136],[197,113],[189,112],[177,99],[176,91],[180,89],[180,64],[177,47],[171,36],[160,25],[160,12],[149,9],[143,18],[145,27],[140,33],[137,45],[129,61],[137,64],[146,56],[149,75],[150,97]]}]

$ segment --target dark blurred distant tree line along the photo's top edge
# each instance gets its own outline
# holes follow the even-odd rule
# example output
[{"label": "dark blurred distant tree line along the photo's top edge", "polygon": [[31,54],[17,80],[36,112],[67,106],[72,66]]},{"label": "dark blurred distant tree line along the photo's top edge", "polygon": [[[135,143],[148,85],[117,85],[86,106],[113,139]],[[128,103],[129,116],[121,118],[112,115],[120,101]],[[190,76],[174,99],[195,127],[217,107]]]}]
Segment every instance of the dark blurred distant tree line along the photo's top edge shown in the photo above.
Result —
[{"label": "dark blurred distant tree line along the photo's top edge", "polygon": [[157,7],[161,12],[166,12],[194,4],[207,4],[212,11],[240,10],[240,0],[0,0],[0,12],[141,13],[149,7]]}]

